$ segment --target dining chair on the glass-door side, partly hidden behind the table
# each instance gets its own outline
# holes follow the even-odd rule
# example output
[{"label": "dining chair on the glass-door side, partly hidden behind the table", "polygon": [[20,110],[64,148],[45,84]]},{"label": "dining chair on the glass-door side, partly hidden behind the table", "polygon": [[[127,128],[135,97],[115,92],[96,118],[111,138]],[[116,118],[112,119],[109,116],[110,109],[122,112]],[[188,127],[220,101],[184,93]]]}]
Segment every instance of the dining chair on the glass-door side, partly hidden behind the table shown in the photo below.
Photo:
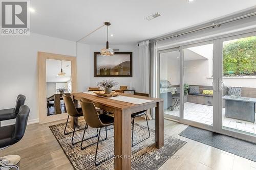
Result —
[{"label": "dining chair on the glass-door side, partly hidden behind the table", "polygon": [[[134,95],[147,96],[147,97],[150,96],[147,93],[138,93],[138,92],[135,92]],[[133,113],[132,114],[132,147],[134,147],[136,144],[138,144],[138,143],[140,143],[140,142],[150,138],[150,128],[148,127],[146,112],[147,112],[147,110],[143,110],[143,111],[140,111],[138,113]],[[148,130],[148,136],[134,143],[134,139],[133,139],[134,138],[134,120],[135,120],[136,117],[140,117],[140,116],[143,116],[143,115],[145,115],[145,118],[146,118],[146,125],[147,125],[147,130]]]}]

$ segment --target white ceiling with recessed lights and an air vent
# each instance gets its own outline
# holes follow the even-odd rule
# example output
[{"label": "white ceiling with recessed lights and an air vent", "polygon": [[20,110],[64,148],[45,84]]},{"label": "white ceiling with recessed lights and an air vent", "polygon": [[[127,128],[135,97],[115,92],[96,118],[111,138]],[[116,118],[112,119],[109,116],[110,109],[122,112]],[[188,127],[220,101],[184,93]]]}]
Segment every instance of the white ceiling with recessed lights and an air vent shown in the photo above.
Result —
[{"label": "white ceiling with recessed lights and an air vent", "polygon": [[[111,44],[132,44],[256,6],[255,0],[31,0],[31,32],[71,41],[91,33],[110,21]],[[146,20],[159,13],[161,16]],[[83,43],[103,44],[103,27]]]}]

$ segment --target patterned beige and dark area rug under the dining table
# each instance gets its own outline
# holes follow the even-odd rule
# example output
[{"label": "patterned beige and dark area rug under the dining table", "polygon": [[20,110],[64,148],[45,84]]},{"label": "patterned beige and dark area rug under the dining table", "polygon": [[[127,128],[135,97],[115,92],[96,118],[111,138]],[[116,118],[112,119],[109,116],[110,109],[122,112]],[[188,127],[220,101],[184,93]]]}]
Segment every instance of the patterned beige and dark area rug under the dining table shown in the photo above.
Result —
[{"label": "patterned beige and dark area rug under the dining table", "polygon": [[[78,128],[80,129],[84,127],[85,124],[86,123],[83,119],[79,119]],[[80,149],[81,143],[72,145],[72,133],[68,135],[63,134],[65,123],[53,125],[49,128],[67,155],[74,169],[114,169],[114,158],[101,163],[99,166],[94,165],[96,144],[85,150]],[[72,131],[70,128],[67,128],[67,130]],[[158,150],[155,144],[155,131],[152,129],[150,131],[150,138],[132,148],[132,169],[158,169],[166,160],[178,159],[178,156],[174,154],[186,143],[183,140],[164,135],[164,146]],[[107,132],[108,139],[99,143],[97,161],[114,155],[114,129],[108,130]],[[74,141],[81,140],[82,134],[83,130],[75,132]],[[88,138],[96,134],[97,130],[89,127],[86,130],[84,138]],[[147,135],[147,128],[136,124],[134,127],[134,142],[140,140],[141,137],[145,137],[145,135]],[[105,129],[102,129],[100,133],[100,139],[103,138],[105,138]],[[96,141],[97,137],[89,139],[83,142],[83,146]]]}]

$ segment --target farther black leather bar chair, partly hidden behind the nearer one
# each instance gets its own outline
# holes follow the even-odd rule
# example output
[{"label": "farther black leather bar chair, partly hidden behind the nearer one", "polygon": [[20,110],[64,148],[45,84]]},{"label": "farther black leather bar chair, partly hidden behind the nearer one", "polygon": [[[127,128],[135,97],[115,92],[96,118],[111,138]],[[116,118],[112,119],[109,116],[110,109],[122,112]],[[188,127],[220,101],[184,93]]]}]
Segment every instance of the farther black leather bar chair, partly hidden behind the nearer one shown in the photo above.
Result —
[{"label": "farther black leather bar chair, partly hidden behind the nearer one", "polygon": [[3,120],[10,120],[10,119],[16,118],[19,112],[20,106],[23,106],[25,101],[26,101],[26,96],[23,94],[19,94],[17,96],[16,105],[14,108],[0,110],[0,123]]}]

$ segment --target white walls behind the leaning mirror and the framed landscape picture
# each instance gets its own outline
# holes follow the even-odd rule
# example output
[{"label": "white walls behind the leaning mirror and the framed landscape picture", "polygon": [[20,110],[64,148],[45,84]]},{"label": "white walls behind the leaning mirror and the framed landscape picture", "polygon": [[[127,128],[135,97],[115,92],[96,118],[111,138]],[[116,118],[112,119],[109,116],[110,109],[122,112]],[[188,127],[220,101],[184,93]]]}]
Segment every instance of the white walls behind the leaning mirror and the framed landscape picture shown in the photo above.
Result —
[{"label": "white walls behind the leaning mirror and the framed landscape picture", "polygon": [[[102,78],[94,78],[94,52],[104,45],[78,43],[77,89],[86,91]],[[136,90],[139,86],[138,48],[136,45],[111,46],[121,52],[133,52],[133,78],[116,78],[120,85],[129,85]],[[30,36],[0,37],[0,109],[13,108],[18,94],[27,96],[30,107],[29,123],[38,121],[37,52],[76,56],[75,42],[31,33]],[[39,89],[40,90],[40,89]],[[2,122],[2,125],[14,120]]]}]

